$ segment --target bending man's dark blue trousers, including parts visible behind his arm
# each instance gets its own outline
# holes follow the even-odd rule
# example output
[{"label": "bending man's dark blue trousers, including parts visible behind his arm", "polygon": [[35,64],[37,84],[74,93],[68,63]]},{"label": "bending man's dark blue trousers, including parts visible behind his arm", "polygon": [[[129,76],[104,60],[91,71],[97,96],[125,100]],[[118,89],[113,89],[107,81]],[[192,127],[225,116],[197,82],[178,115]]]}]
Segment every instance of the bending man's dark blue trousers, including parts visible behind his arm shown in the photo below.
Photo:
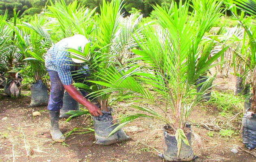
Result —
[{"label": "bending man's dark blue trousers, including parts visible behind his arm", "polygon": [[[60,111],[63,105],[63,95],[64,95],[64,86],[59,78],[58,72],[53,71],[53,70],[48,70],[47,72],[50,77],[51,81],[51,91],[50,91],[50,99],[48,102],[48,107],[47,109],[50,111]],[[73,74],[75,72],[72,72]],[[87,75],[78,75],[78,76],[72,76],[73,80],[76,83],[85,83],[84,79],[87,77]],[[88,84],[88,83],[85,83]],[[83,90],[80,90],[82,93],[82,96],[87,96],[88,92],[85,92]]]}]

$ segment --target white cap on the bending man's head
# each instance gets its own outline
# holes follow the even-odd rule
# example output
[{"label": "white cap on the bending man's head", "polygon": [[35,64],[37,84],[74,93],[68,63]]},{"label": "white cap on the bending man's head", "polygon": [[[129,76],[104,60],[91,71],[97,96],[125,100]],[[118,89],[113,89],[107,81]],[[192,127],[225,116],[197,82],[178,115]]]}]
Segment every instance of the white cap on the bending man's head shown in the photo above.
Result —
[{"label": "white cap on the bending man's head", "polygon": [[[85,36],[83,36],[81,34],[76,34],[67,39],[68,39],[68,48],[76,49],[82,53],[84,53],[85,45],[87,45],[87,43],[90,43],[90,41]],[[88,55],[89,52],[90,52],[90,50],[88,50],[87,53],[85,53],[85,54]],[[81,60],[79,60],[76,58],[71,58],[72,61],[74,61],[76,63],[83,63],[83,62],[85,62],[83,60],[86,60],[86,58],[84,56],[79,55],[77,53],[70,52],[70,55],[81,59]]]}]

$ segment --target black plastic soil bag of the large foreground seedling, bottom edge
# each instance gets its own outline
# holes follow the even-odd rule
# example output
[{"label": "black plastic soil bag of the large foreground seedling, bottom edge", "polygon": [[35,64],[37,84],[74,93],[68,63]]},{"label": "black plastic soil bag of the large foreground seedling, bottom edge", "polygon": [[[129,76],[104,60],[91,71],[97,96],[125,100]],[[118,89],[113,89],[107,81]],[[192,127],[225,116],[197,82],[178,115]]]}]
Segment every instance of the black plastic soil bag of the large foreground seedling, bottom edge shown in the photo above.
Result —
[{"label": "black plastic soil bag of the large foreground seedling, bottom edge", "polygon": [[[189,130],[191,130],[190,125],[186,125]],[[194,153],[192,147],[186,145],[183,141],[181,144],[180,149],[180,155],[178,156],[178,147],[177,147],[177,140],[175,136],[171,136],[167,133],[166,129],[171,129],[169,126],[164,126],[163,128],[163,154],[160,154],[159,156],[164,158],[167,161],[171,162],[183,162],[183,161],[191,161],[194,159]],[[187,139],[189,141],[189,144],[191,145],[191,139],[192,139],[192,133],[189,131],[187,134]],[[196,156],[195,156],[196,157]]]}]

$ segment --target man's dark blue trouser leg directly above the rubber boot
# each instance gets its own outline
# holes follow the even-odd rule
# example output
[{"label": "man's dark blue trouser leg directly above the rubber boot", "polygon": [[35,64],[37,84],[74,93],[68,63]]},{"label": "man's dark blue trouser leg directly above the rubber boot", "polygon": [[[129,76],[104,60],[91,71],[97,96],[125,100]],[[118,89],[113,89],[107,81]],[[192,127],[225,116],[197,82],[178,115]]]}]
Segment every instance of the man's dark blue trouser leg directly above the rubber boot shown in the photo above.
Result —
[{"label": "man's dark blue trouser leg directly above the rubber boot", "polygon": [[50,111],[60,111],[63,105],[63,95],[65,88],[59,78],[58,72],[47,70],[51,81],[50,99],[47,109]]}]

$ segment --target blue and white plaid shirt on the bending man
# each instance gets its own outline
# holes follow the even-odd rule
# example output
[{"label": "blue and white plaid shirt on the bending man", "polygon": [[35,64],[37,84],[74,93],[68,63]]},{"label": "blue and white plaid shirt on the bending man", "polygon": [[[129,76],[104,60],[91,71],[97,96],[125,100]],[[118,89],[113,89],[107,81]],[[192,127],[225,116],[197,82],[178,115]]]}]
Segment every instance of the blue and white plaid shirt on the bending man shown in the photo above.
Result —
[{"label": "blue and white plaid shirt on the bending man", "polygon": [[58,72],[64,85],[72,84],[71,72],[75,70],[74,62],[65,51],[68,43],[65,39],[53,45],[46,53],[45,66],[48,70]]}]

